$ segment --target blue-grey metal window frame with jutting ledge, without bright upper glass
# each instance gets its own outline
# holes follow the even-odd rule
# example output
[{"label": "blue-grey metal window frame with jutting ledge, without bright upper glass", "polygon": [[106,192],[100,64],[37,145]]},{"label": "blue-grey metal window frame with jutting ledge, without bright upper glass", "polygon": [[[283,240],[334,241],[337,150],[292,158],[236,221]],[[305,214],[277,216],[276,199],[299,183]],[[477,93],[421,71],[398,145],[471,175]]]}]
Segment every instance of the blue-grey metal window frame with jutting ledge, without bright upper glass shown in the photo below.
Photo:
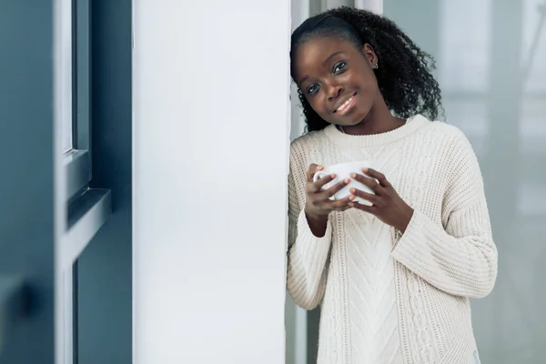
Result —
[{"label": "blue-grey metal window frame with jutting ledge, without bright upper glass", "polygon": [[[92,173],[91,2],[64,0],[71,6],[72,148],[64,155],[66,232],[59,264],[63,285],[63,363],[78,362],[77,259],[112,213],[109,189],[90,188]],[[66,21],[67,22],[67,21]],[[66,30],[67,32],[67,30]]]}]

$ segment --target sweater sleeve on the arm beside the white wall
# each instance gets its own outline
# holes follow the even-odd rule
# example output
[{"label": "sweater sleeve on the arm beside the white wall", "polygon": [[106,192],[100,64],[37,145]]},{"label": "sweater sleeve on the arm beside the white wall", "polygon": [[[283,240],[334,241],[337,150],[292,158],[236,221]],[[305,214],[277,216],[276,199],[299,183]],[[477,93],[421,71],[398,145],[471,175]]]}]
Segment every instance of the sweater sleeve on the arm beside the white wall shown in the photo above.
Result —
[{"label": "sweater sleeve on the arm beside the white wall", "polygon": [[315,237],[308,226],[301,205],[298,202],[298,191],[291,166],[288,175],[287,288],[298,306],[313,309],[324,298],[332,227],[328,221],[324,237]]}]

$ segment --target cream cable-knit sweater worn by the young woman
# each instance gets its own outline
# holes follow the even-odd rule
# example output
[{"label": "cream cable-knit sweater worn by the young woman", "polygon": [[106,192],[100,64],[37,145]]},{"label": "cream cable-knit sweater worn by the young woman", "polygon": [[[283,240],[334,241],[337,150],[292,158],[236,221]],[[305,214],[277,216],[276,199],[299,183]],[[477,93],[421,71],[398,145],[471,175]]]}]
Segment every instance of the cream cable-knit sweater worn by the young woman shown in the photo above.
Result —
[{"label": "cream cable-knit sweater worn by the young woman", "polygon": [[[315,237],[303,211],[309,164],[369,159],[414,208],[405,233],[351,208]],[[328,126],[292,143],[288,179],[288,291],[302,308],[320,304],[319,364],[473,362],[469,298],[493,288],[497,249],[458,128],[423,116],[371,136]]]}]

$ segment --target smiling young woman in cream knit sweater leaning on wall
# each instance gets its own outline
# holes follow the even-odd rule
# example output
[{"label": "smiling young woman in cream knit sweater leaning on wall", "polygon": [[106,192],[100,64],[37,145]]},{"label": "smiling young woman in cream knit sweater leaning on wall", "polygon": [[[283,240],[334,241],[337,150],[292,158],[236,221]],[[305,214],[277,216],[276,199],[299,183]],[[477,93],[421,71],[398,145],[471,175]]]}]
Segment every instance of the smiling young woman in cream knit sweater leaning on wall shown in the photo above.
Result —
[{"label": "smiling young woman in cream knit sweater leaning on wall", "polygon": [[[350,7],[291,38],[308,133],[292,143],[288,290],[321,307],[319,364],[479,362],[469,298],[497,277],[480,167],[468,139],[434,120],[433,61],[388,19]],[[313,182],[374,160],[369,177]],[[355,202],[364,198],[371,206]]]}]

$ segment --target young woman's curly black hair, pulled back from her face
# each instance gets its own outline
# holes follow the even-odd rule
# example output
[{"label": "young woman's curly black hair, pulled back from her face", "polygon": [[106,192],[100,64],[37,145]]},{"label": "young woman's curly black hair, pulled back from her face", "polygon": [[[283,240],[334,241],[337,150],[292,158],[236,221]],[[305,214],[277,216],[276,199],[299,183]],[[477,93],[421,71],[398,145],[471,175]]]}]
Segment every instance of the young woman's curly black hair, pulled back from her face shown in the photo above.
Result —
[{"label": "young woman's curly black hair, pulled back from her face", "polygon": [[[349,6],[308,18],[291,36],[292,71],[298,46],[314,36],[336,36],[359,49],[365,44],[371,45],[379,59],[379,68],[374,69],[379,91],[393,114],[402,118],[421,114],[430,120],[438,116],[441,95],[438,81],[432,76],[432,70],[436,68],[434,58],[388,18]],[[329,126],[309,105],[300,89],[298,96],[307,131]]]}]

